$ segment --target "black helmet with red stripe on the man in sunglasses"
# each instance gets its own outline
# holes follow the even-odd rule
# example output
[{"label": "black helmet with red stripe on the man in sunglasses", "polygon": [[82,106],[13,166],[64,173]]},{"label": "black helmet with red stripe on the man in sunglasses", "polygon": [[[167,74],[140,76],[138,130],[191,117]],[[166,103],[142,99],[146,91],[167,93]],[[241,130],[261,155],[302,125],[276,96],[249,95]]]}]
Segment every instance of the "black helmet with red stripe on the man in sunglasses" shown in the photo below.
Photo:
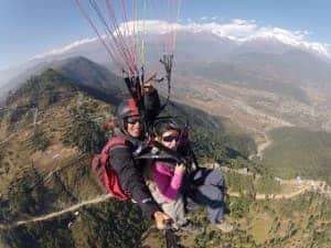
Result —
[{"label": "black helmet with red stripe on the man in sunglasses", "polygon": [[125,119],[130,116],[140,116],[139,108],[134,98],[121,101],[116,109],[117,121],[121,129],[125,127]]}]

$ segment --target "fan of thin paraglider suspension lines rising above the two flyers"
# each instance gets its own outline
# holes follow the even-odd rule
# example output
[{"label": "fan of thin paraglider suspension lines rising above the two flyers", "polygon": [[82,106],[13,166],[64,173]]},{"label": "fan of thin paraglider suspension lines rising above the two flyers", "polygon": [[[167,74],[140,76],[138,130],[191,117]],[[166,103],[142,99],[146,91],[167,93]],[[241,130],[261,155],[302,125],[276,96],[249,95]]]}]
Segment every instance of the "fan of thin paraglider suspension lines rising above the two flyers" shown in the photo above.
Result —
[{"label": "fan of thin paraglider suspension lines rising above the two flyers", "polygon": [[[180,0],[76,0],[110,61],[122,72],[127,88],[142,111],[146,82],[161,82],[166,78],[168,97],[160,111],[169,101],[180,2]],[[159,36],[151,45],[148,42],[152,32],[158,32]],[[147,60],[147,54],[153,56]],[[152,66],[147,66],[148,62],[151,62]],[[147,67],[156,67],[156,64],[163,67],[166,75],[158,78],[157,73],[151,73],[146,79]]]}]

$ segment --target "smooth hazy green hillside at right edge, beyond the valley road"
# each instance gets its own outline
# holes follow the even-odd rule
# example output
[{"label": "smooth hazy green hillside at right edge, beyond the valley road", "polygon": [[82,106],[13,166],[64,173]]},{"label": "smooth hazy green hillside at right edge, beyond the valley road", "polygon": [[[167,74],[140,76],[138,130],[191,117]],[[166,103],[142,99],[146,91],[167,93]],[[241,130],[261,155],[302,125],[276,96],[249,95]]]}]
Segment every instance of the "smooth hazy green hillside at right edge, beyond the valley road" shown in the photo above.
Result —
[{"label": "smooth hazy green hillside at right edge, beyond the valley road", "polygon": [[331,133],[303,128],[281,128],[270,133],[273,144],[264,163],[280,177],[321,179],[331,183]]}]

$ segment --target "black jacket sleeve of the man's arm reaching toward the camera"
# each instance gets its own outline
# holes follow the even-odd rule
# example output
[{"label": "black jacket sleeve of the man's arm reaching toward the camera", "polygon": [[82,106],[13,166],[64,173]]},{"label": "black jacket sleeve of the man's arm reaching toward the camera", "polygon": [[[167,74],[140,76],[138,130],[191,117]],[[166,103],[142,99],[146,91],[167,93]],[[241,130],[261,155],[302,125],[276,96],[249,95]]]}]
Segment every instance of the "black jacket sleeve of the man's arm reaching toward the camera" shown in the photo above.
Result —
[{"label": "black jacket sleeve of the man's arm reaching toward the camera", "polygon": [[109,162],[118,174],[122,190],[131,194],[145,215],[152,217],[160,207],[152,198],[141,170],[135,164],[130,149],[127,145],[115,147],[109,153]]}]

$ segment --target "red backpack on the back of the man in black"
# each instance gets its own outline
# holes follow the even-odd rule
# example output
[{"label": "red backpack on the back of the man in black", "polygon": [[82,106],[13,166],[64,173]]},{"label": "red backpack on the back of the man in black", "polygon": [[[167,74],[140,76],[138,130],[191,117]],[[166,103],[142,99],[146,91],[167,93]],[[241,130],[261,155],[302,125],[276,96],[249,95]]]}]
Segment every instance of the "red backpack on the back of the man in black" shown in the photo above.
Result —
[{"label": "red backpack on the back of the man in black", "polygon": [[109,150],[115,145],[125,143],[126,140],[124,138],[113,138],[103,148],[102,153],[96,154],[92,160],[92,171],[98,183],[118,201],[128,201],[131,197],[124,192],[116,171],[109,164]]}]

